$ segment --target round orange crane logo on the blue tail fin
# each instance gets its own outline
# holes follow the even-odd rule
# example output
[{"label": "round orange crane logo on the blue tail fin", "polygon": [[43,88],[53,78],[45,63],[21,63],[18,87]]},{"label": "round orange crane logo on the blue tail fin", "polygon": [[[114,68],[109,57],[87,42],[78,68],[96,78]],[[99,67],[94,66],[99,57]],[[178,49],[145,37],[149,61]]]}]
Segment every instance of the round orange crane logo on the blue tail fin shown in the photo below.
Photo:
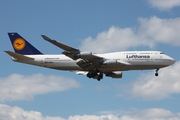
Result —
[{"label": "round orange crane logo on the blue tail fin", "polygon": [[22,50],[26,45],[26,42],[22,39],[22,38],[17,38],[14,43],[13,46],[16,50]]}]

